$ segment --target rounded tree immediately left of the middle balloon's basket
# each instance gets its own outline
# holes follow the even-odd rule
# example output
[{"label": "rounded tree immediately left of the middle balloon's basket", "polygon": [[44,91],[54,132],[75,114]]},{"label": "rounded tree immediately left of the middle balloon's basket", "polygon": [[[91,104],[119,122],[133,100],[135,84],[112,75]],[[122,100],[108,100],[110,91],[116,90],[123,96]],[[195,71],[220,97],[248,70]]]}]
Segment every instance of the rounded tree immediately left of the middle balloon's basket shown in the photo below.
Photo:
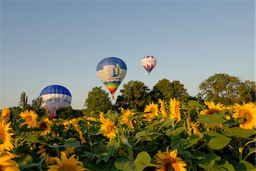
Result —
[{"label": "rounded tree immediately left of the middle balloon's basket", "polygon": [[107,112],[112,108],[112,103],[109,98],[109,94],[101,87],[93,87],[92,91],[89,91],[88,97],[85,100],[86,113],[90,112]]}]

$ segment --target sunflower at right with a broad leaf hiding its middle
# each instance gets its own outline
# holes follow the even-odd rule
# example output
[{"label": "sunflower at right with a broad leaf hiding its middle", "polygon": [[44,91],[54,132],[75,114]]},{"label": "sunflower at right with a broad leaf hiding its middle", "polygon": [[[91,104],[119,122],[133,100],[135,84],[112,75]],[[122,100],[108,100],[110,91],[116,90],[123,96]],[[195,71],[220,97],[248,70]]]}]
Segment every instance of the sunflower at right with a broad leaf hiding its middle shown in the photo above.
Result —
[{"label": "sunflower at right with a broad leaf hiding its middle", "polygon": [[[220,104],[220,102],[215,105],[213,101],[210,101],[210,102],[204,102],[205,105],[208,106],[209,109],[205,109],[203,111],[200,112],[200,115],[212,115],[214,114],[214,112],[217,112],[217,111],[223,111],[225,112],[226,111],[226,108],[223,104]],[[213,129],[213,128],[220,128],[222,127],[222,123],[210,123],[210,124],[207,124],[207,127]]]}]

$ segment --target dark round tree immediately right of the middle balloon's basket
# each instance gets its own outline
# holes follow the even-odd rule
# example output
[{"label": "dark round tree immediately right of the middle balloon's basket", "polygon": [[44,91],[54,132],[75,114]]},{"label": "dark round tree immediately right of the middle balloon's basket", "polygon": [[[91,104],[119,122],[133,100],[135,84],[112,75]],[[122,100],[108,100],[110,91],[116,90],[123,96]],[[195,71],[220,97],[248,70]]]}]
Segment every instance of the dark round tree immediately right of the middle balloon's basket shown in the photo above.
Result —
[{"label": "dark round tree immediately right of the middle balloon's basket", "polygon": [[148,86],[141,81],[129,81],[123,85],[118,95],[115,107],[123,107],[123,109],[135,109],[143,111],[144,107],[150,102]]}]

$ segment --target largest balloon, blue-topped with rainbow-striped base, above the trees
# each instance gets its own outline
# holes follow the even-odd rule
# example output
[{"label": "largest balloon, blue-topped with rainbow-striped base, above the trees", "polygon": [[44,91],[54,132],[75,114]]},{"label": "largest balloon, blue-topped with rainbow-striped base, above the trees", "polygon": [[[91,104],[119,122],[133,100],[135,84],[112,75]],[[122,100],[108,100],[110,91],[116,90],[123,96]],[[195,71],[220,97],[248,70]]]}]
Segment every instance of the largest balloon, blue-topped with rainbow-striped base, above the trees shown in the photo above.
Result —
[{"label": "largest balloon, blue-topped with rainbow-striped base, above the trees", "polygon": [[126,75],[125,62],[117,57],[107,57],[98,63],[96,71],[98,77],[112,94],[112,99],[114,99],[115,91]]}]

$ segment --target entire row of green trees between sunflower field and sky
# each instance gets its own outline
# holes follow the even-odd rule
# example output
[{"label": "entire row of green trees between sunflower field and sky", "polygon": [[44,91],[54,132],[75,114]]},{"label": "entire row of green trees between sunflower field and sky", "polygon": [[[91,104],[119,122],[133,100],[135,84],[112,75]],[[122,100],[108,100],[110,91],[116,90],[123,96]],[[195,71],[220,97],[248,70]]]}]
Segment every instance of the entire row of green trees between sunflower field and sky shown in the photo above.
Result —
[{"label": "entire row of green trees between sunflower field and sky", "polygon": [[[72,107],[59,109],[56,118],[72,119],[82,115],[93,115],[100,111],[120,111],[121,108],[143,112],[144,107],[150,102],[158,103],[159,99],[168,102],[171,98],[176,98],[181,103],[187,103],[191,99],[200,103],[213,101],[225,105],[243,102],[255,103],[256,85],[254,81],[242,81],[239,77],[224,73],[216,73],[202,81],[199,90],[200,92],[196,96],[191,96],[180,81],[171,82],[166,78],[159,80],[152,89],[141,81],[129,81],[120,89],[120,95],[112,104],[109,93],[102,90],[101,86],[95,86],[85,99],[85,109],[74,110]],[[31,105],[28,104],[27,95],[22,92],[18,107],[11,107],[11,109],[34,110],[39,115],[46,115],[46,109],[42,108],[41,104],[40,97],[33,99]]]}]

